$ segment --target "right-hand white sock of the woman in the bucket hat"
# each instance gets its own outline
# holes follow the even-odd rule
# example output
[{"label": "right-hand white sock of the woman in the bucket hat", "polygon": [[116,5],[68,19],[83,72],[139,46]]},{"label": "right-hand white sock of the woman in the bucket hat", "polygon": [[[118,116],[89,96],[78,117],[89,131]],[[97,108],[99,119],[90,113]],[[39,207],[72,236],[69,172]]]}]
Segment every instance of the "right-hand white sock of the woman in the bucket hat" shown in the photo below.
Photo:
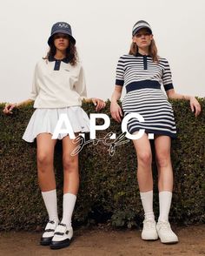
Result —
[{"label": "right-hand white sock of the woman in the bucket hat", "polygon": [[63,219],[62,223],[71,226],[71,218],[76,205],[76,195],[71,193],[63,194]]}]

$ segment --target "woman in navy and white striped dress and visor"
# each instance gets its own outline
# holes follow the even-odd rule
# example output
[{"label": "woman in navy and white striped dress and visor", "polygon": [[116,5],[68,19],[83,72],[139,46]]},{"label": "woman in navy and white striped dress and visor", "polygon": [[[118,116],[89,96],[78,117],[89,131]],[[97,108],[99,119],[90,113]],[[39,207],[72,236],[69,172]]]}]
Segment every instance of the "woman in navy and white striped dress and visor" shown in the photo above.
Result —
[{"label": "woman in navy and white striped dress and visor", "polygon": [[[119,58],[116,68],[116,87],[112,94],[110,111],[112,118],[122,121],[129,113],[139,113],[144,122],[129,119],[128,131],[134,135],[140,129],[145,132],[142,138],[133,139],[137,155],[137,179],[144,210],[142,239],[162,243],[176,243],[178,238],[169,225],[169,209],[172,199],[173,170],[170,158],[171,138],[175,138],[175,118],[168,98],[183,98],[190,101],[192,111],[198,116],[201,106],[194,97],[177,94],[171,78],[169,62],[157,55],[150,25],[138,21],[132,30],[132,44],[129,54]],[[121,98],[122,86],[127,94],[122,100],[122,109],[117,104]],[[158,189],[160,215],[155,223],[153,212],[153,178],[151,171],[152,153],[149,133],[154,134],[155,157],[158,169]]]}]

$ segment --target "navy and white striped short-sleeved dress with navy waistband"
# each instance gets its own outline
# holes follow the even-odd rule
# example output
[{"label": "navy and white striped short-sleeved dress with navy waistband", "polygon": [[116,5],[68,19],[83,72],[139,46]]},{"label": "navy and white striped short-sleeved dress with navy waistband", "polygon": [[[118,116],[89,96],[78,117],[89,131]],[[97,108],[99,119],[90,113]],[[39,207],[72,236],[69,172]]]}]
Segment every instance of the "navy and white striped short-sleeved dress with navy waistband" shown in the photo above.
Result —
[{"label": "navy and white striped short-sleeved dress with navy waistband", "polygon": [[165,91],[174,88],[166,58],[159,57],[159,63],[154,63],[149,55],[122,55],[116,67],[116,85],[126,87],[122,99],[124,115],[136,112],[144,118],[144,122],[129,119],[130,134],[145,129],[147,133],[176,137],[172,106],[161,89],[162,85]]}]

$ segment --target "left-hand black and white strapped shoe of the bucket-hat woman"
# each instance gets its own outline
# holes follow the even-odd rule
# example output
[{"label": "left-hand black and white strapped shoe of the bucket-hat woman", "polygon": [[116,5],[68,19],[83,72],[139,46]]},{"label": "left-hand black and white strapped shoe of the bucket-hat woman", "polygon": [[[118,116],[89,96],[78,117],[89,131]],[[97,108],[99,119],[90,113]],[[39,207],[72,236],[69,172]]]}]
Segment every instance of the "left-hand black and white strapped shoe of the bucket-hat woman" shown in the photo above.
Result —
[{"label": "left-hand black and white strapped shoe of the bucket-hat woman", "polygon": [[58,222],[55,220],[50,220],[47,225],[45,226],[45,230],[43,232],[43,236],[40,240],[41,246],[49,246],[50,242],[54,236],[54,232],[56,230],[56,226],[58,225]]}]

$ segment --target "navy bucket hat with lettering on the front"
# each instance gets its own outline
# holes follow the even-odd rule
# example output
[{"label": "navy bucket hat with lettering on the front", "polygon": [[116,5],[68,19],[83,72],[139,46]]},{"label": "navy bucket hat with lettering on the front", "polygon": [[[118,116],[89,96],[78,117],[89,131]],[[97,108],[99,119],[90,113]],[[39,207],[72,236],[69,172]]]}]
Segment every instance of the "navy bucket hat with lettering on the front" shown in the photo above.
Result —
[{"label": "navy bucket hat with lettering on the front", "polygon": [[48,44],[50,45],[53,41],[53,36],[56,33],[63,33],[69,36],[69,39],[71,40],[71,42],[73,44],[76,44],[76,39],[72,36],[72,30],[69,24],[65,23],[65,22],[58,22],[56,24],[53,24],[52,29],[51,29],[51,33],[50,33],[50,37],[48,40]]}]

